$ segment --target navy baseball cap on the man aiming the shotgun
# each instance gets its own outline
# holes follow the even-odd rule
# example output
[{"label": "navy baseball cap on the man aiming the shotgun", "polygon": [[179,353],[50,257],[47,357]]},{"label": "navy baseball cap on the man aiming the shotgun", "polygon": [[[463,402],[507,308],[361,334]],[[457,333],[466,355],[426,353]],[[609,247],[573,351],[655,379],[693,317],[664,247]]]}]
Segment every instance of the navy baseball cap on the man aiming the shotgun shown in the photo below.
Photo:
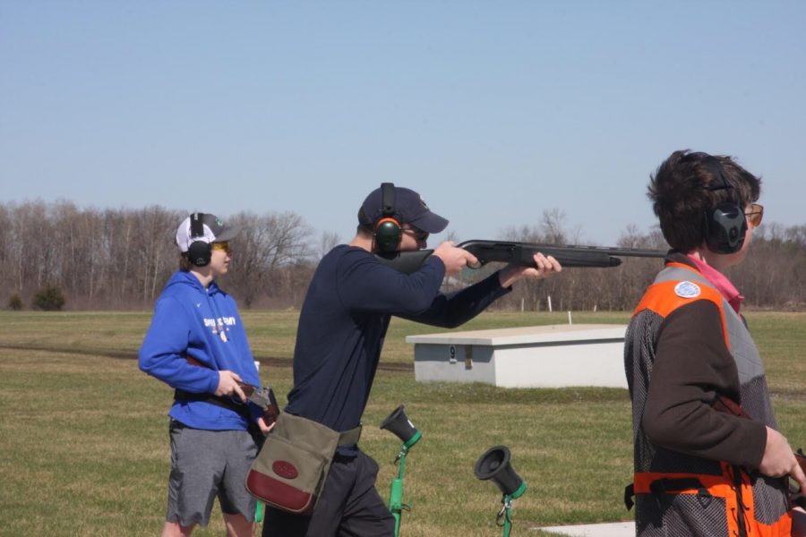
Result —
[{"label": "navy baseball cap on the man aiming the shotgun", "polygon": [[[441,233],[448,227],[448,220],[433,213],[425,204],[423,198],[413,190],[394,187],[394,215],[400,225],[408,224],[422,229],[424,232]],[[374,226],[385,215],[382,207],[382,189],[377,188],[370,192],[364,200],[361,210],[358,211],[358,223],[362,226]]]}]

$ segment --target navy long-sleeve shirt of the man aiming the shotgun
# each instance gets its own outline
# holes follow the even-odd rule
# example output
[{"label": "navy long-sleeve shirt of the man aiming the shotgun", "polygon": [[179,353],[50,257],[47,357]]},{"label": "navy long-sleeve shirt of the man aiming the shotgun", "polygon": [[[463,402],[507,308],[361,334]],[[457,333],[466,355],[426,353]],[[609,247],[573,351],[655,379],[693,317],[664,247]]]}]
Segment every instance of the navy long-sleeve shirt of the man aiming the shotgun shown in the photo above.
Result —
[{"label": "navy long-sleeve shirt of the man aiming the shotgun", "polygon": [[444,276],[442,260],[433,256],[406,275],[360,248],[342,244],[330,251],[300,313],[287,412],[333,430],[358,426],[392,315],[454,328],[509,292],[495,273],[442,294]]}]

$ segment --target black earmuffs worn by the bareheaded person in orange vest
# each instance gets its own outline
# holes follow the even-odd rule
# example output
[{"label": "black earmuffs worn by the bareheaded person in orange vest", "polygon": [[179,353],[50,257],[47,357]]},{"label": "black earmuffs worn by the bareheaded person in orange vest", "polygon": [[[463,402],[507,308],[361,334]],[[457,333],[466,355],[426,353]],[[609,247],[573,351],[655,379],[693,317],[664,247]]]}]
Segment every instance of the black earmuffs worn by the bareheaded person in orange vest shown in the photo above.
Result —
[{"label": "black earmuffs worn by the bareheaded person in orange vest", "polygon": [[[708,191],[735,191],[733,184],[725,178],[725,168],[719,160],[707,153],[699,155],[700,163],[706,166],[714,180],[708,183]],[[703,217],[703,231],[708,250],[714,253],[734,253],[742,250],[744,237],[747,234],[747,217],[744,209],[736,201],[723,201],[707,209]]]}]

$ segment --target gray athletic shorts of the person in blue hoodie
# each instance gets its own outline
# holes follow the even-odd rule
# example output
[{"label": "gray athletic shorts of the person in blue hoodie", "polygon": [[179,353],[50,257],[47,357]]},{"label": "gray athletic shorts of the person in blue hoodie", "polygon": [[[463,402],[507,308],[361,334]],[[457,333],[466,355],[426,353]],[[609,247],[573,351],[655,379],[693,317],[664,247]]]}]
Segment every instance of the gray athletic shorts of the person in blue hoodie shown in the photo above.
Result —
[{"label": "gray athletic shorts of the person in blue hoodie", "polygon": [[257,448],[245,430],[201,430],[171,420],[171,475],[166,520],[181,525],[210,522],[213,500],[221,511],[254,520],[255,500],[246,473]]}]

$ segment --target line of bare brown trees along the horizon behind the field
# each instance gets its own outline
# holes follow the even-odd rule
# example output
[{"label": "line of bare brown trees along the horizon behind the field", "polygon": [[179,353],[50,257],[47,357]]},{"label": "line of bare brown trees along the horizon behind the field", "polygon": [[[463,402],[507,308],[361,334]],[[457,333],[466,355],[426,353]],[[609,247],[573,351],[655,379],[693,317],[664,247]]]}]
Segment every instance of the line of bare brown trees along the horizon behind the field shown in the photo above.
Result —
[{"label": "line of bare brown trees along the horizon behind the field", "polygon": [[[186,214],[159,206],[80,209],[70,201],[0,204],[0,307],[13,295],[30,304],[39,288],[57,285],[68,309],[148,309],[176,270],[173,237]],[[222,286],[244,308],[298,308],[316,263],[339,243],[338,234],[315,234],[293,212],[241,212],[227,221],[242,231]],[[582,231],[569,230],[562,211],[551,209],[535,224],[467,238],[575,244],[585,243]],[[641,233],[634,226],[609,245],[666,248],[658,230]],[[571,268],[560,277],[519,283],[496,307],[546,310],[551,302],[557,311],[629,311],[660,267],[660,260],[625,259],[618,268]],[[492,269],[467,270],[446,286],[465,285]],[[750,306],[806,309],[806,225],[761,226],[747,260],[730,277]]]}]

